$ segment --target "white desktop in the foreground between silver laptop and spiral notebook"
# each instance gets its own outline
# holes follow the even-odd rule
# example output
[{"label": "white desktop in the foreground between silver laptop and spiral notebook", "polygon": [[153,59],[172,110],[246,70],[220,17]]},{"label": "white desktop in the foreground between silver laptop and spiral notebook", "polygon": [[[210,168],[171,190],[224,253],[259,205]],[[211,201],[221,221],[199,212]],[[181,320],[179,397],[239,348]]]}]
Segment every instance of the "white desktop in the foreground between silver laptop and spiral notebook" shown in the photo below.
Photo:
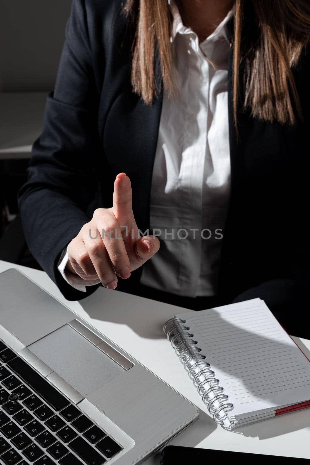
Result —
[{"label": "white desktop in the foreground between silver laptop and spiral notebook", "polygon": [[[99,288],[80,302],[69,302],[44,272],[0,261],[0,272],[13,267],[24,272],[200,408],[198,421],[171,441],[171,445],[310,458],[310,409],[235,432],[226,432],[215,425],[162,332],[165,321],[180,312],[179,307],[105,288]],[[181,309],[181,312],[186,310]],[[309,357],[310,341],[294,340]],[[158,465],[159,457],[157,453],[145,464]]]}]

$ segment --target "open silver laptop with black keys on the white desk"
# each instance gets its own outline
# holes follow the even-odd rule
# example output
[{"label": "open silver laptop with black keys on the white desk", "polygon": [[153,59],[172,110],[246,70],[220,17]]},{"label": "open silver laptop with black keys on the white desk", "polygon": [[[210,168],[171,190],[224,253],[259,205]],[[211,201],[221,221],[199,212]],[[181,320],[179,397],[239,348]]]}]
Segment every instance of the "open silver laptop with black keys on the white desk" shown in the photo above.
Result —
[{"label": "open silver laptop with black keys on the white desk", "polygon": [[197,418],[24,274],[0,273],[0,462],[138,464]]}]

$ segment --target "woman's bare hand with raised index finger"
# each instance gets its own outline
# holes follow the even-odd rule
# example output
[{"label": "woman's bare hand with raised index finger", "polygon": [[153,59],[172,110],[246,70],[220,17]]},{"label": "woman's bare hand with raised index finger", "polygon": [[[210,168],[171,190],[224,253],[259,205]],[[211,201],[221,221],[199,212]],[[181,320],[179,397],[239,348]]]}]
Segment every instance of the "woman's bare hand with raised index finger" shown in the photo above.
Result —
[{"label": "woman's bare hand with raised index finger", "polygon": [[140,237],[130,179],[120,173],[114,182],[113,207],[95,210],[90,222],[71,240],[66,269],[85,281],[100,279],[103,286],[115,289],[117,276],[129,278],[159,247],[156,237]]}]

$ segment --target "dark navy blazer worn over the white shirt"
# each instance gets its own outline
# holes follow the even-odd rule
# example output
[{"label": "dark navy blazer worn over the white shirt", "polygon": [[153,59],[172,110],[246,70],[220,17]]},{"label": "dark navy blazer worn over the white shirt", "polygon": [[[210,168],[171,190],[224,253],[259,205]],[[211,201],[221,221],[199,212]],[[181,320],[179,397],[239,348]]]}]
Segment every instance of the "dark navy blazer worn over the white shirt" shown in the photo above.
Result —
[{"label": "dark navy blazer worn over the white shirt", "polygon": [[[233,21],[229,30],[232,37]],[[149,227],[161,72],[157,66],[157,98],[145,105],[130,84],[132,37],[121,0],[73,0],[44,131],[19,193],[29,249],[69,300],[82,299],[97,286],[85,294],[65,283],[57,270],[59,255],[95,207],[112,205],[117,173],[131,179],[138,227]],[[233,124],[233,43],[228,58],[231,193],[219,293],[227,301],[261,297],[272,311],[290,312],[291,318],[309,312],[308,49],[294,70],[304,122],[281,126],[238,111],[240,142]],[[140,276],[136,270],[126,285],[137,286]]]}]

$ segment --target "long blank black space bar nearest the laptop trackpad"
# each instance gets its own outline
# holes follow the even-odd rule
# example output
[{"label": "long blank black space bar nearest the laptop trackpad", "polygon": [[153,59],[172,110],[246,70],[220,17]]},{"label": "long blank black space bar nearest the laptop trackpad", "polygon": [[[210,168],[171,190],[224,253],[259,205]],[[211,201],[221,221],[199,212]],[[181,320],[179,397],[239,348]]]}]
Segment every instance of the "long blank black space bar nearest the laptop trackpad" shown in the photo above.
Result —
[{"label": "long blank black space bar nearest the laptop trackpad", "polygon": [[[1,352],[3,353],[3,352]],[[48,405],[58,411],[63,409],[69,404],[69,400],[65,398],[60,392],[57,391],[50,383],[39,375],[31,366],[29,366],[23,359],[16,357],[11,360],[8,366],[25,381],[33,391],[37,392]]]}]

